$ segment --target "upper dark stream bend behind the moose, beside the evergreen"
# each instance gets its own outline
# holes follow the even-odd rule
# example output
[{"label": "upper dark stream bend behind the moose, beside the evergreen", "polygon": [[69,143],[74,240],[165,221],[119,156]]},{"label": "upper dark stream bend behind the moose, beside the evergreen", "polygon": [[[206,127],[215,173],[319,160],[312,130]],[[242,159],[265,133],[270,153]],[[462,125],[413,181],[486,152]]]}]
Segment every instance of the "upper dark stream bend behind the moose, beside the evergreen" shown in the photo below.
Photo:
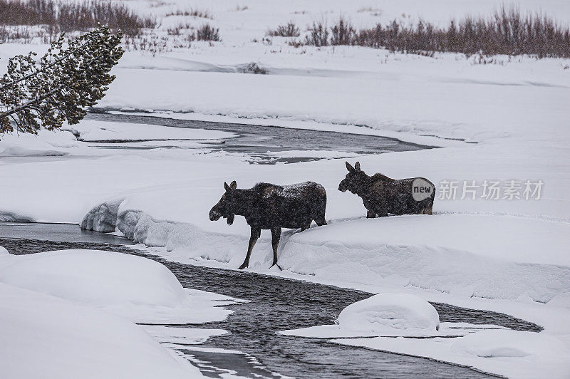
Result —
[{"label": "upper dark stream bend behind the moose, beside the evergreen", "polygon": [[[172,118],[128,115],[124,113],[88,113],[86,119],[162,125],[172,128],[222,130],[224,132],[234,133],[236,137],[225,139],[222,142],[204,143],[203,147],[212,151],[243,153],[250,157],[252,162],[261,164],[274,164],[276,162],[294,163],[319,159],[315,157],[290,157],[286,154],[284,154],[284,156],[279,156],[279,152],[289,152],[290,150],[340,151],[350,153],[352,154],[350,156],[353,156],[360,154],[378,154],[383,152],[412,151],[430,148],[430,146],[418,145],[415,143],[403,142],[395,138],[379,137],[375,135],[335,133],[318,130],[280,128],[276,126],[260,127],[247,124],[176,120]],[[81,138],[81,135],[79,138]],[[145,147],[125,147],[120,145],[124,142],[130,142],[128,140],[91,142],[97,142],[98,147],[107,148],[165,148],[162,146],[149,147],[147,144]],[[152,140],[145,140],[145,142],[152,142]],[[177,146],[175,142],[170,148],[172,147],[185,148],[183,145]],[[268,155],[268,151],[272,152],[271,155]]]}]

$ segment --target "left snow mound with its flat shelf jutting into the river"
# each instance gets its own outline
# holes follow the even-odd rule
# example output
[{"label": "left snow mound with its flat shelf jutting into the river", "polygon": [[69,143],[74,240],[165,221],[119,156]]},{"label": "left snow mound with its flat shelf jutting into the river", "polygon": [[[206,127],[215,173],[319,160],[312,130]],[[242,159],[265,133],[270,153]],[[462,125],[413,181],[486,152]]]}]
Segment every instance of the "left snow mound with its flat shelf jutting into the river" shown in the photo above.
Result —
[{"label": "left snow mound with its flat shelf jutting into the river", "polygon": [[184,289],[162,264],[98,250],[61,250],[10,256],[0,281],[76,303],[104,308],[140,323],[223,321],[226,296]]}]

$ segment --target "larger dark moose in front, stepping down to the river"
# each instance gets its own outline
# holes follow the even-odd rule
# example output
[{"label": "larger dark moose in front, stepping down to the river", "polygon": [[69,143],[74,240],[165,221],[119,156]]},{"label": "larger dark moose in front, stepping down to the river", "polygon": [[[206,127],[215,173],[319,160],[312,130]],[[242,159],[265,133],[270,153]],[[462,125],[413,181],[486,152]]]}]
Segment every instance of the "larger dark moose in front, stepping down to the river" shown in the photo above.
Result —
[{"label": "larger dark moose in front, stepping down to the river", "polygon": [[220,217],[227,219],[231,225],[235,215],[244,216],[247,224],[252,228],[249,237],[249,246],[242,266],[249,266],[249,256],[252,255],[261,229],[271,230],[271,246],[273,247],[273,264],[277,264],[277,246],[281,239],[281,228],[297,229],[301,232],[311,226],[314,220],[320,227],[326,225],[326,191],[323,186],[315,182],[297,183],[295,185],[272,185],[258,183],[249,190],[237,189],[235,180],[227,185],[226,192],[219,202],[209,211],[210,221],[217,221]]}]

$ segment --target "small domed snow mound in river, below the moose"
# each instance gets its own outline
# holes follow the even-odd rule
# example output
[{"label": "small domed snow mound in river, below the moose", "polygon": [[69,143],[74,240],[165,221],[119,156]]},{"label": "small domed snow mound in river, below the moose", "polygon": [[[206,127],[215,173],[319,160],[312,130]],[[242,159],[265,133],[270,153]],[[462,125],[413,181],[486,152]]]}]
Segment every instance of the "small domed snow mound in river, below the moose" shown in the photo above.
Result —
[{"label": "small domed snow mound in river, below the moose", "polygon": [[338,315],[338,323],[341,329],[351,331],[437,331],[440,316],[419,296],[378,294],[344,308]]}]

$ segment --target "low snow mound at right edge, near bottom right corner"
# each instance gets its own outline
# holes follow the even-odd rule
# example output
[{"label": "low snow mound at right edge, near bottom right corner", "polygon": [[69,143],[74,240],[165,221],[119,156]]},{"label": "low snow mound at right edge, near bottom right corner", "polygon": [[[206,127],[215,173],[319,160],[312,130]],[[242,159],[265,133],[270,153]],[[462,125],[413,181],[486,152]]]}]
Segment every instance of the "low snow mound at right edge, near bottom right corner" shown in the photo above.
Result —
[{"label": "low snow mound at right edge, near bottom right corner", "polygon": [[559,339],[544,333],[527,331],[492,330],[470,333],[457,338],[452,351],[467,353],[481,358],[526,357],[553,354],[570,355],[570,351]]}]

